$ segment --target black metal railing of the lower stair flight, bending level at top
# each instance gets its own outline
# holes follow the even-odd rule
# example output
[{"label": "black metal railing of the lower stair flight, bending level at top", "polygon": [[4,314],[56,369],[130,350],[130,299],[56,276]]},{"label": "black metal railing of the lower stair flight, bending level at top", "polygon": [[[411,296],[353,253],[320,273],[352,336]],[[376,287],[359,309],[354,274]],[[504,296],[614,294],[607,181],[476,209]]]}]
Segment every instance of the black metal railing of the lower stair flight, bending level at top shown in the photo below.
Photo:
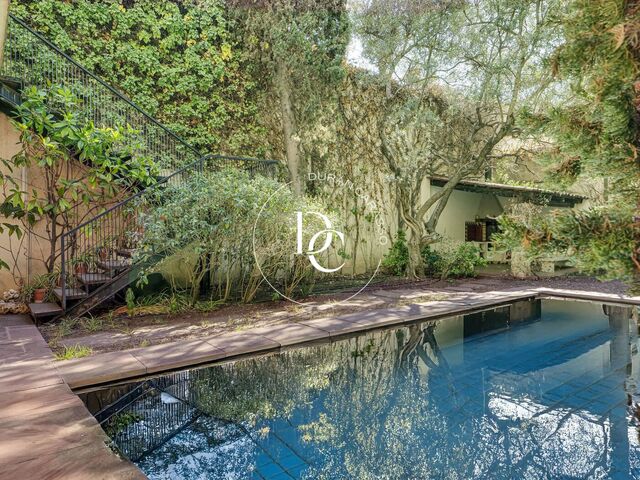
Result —
[{"label": "black metal railing of the lower stair flight, bending level at top", "polygon": [[[144,234],[141,213],[162,202],[162,193],[167,185],[183,184],[197,173],[224,168],[243,170],[251,176],[275,176],[277,165],[275,160],[205,155],[64,233],[60,240],[59,256],[63,310],[67,309],[70,296],[88,296],[89,293],[91,296],[100,295],[108,290],[113,279],[140,266],[136,265],[135,251]],[[92,284],[101,286],[92,287],[89,292],[88,286]]]}]

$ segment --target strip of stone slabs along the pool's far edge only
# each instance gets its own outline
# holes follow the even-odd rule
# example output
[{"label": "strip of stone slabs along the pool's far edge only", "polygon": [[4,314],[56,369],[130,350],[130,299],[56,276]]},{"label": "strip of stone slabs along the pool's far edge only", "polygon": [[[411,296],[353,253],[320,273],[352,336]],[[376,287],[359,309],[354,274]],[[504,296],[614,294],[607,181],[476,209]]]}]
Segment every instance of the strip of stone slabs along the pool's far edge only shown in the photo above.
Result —
[{"label": "strip of stone slabs along the pool's far edge only", "polygon": [[[383,295],[424,296],[424,290],[386,291]],[[331,341],[336,337],[376,328],[393,327],[423,319],[456,315],[498,304],[538,297],[574,298],[610,303],[640,305],[640,297],[598,292],[560,290],[550,288],[465,291],[446,300],[325,316],[299,322],[251,328],[242,332],[207,336],[151,347],[108,352],[90,357],[59,362],[58,370],[65,382],[74,389],[128,380],[188,366],[204,365],[234,359],[243,355],[277,352],[281,348],[309,342]]]}]

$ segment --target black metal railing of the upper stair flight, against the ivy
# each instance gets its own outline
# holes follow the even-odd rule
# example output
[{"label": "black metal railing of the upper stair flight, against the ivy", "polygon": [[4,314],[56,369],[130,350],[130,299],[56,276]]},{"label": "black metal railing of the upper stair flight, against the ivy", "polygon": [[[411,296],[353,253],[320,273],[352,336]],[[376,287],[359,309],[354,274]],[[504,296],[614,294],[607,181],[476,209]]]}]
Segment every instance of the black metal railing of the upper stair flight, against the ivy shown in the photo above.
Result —
[{"label": "black metal railing of the upper stair flight, against the ivy", "polygon": [[68,88],[86,120],[99,127],[131,126],[140,153],[152,158],[161,172],[173,172],[200,157],[193,146],[11,14],[0,75],[15,77],[27,87]]}]

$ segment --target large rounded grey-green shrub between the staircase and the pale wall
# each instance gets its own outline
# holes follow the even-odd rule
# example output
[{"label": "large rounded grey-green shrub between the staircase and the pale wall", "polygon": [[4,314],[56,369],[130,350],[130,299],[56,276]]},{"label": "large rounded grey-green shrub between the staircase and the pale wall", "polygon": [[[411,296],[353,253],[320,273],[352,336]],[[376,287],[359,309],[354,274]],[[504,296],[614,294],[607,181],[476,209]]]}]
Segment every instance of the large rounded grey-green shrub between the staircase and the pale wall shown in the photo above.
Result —
[{"label": "large rounded grey-green shrub between the staircase and the pale wall", "polygon": [[[296,226],[287,219],[296,211],[323,208],[262,176],[239,170],[197,175],[168,186],[143,214],[142,255],[163,257],[155,269],[174,291],[188,290],[192,305],[205,282],[211,300],[248,302],[263,284],[262,274],[290,296],[312,282],[315,271],[305,256],[293,255]],[[325,228],[314,217],[305,218],[304,238]]]}]

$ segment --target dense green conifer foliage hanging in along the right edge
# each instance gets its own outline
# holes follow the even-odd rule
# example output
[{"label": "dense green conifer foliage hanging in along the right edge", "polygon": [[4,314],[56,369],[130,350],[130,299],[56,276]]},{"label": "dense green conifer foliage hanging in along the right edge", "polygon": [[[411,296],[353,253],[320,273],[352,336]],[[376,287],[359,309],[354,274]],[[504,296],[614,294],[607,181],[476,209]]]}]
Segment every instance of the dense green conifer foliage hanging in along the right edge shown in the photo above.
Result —
[{"label": "dense green conifer foliage hanging in along the right edge", "polygon": [[[559,26],[552,71],[567,100],[530,117],[555,142],[553,178],[600,182],[588,211],[527,225],[519,212],[505,232],[534,251],[569,248],[587,273],[640,288],[640,3],[571,0]],[[503,227],[504,228],[504,227]],[[532,239],[534,240],[532,242]]]}]

